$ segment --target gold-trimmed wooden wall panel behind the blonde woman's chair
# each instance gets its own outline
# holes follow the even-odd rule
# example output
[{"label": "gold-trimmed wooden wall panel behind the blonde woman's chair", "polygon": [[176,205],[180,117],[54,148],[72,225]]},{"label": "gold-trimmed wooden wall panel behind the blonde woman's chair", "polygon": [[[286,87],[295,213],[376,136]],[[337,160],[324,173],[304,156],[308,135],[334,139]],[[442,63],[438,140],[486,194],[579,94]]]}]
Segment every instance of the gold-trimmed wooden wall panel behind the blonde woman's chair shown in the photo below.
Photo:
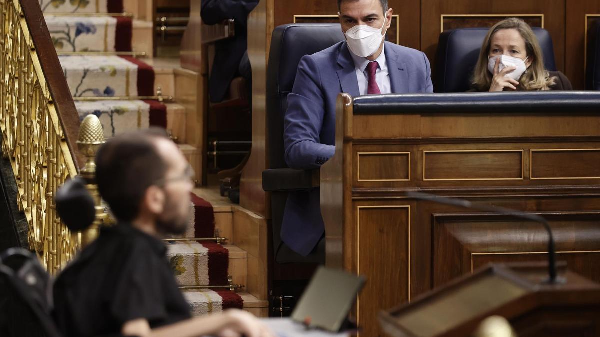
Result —
[{"label": "gold-trimmed wooden wall panel behind the blonde woman's chair", "polygon": [[[434,62],[437,42],[439,40],[442,15],[477,15],[493,14],[502,17],[524,17],[531,14],[544,14],[544,28],[550,32],[554,43],[557,68],[565,70],[565,1],[567,0],[506,0],[502,2],[489,2],[481,0],[422,0],[421,12],[422,34],[421,49],[427,54],[430,61]],[[533,20],[529,18],[529,20]],[[532,22],[539,26],[538,22]],[[491,20],[462,20],[461,25],[473,26],[481,23],[487,27]],[[458,23],[449,21],[448,26],[457,26]],[[583,59],[581,60],[583,62]],[[434,70],[435,71],[435,70]]]}]

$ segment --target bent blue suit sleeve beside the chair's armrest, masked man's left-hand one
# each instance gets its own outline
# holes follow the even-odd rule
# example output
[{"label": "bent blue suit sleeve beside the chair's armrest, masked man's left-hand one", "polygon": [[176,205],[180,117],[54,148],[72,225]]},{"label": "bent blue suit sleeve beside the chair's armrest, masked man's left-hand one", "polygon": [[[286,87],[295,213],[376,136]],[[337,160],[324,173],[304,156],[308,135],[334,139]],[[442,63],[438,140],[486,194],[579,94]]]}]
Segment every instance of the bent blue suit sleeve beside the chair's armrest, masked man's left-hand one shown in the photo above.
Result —
[{"label": "bent blue suit sleeve beside the chair's armrest, masked man's left-hand one", "polygon": [[304,56],[291,94],[287,96],[284,122],[286,162],[292,169],[316,169],[335,153],[335,146],[320,143],[325,116],[325,98],[319,68],[310,56]]}]

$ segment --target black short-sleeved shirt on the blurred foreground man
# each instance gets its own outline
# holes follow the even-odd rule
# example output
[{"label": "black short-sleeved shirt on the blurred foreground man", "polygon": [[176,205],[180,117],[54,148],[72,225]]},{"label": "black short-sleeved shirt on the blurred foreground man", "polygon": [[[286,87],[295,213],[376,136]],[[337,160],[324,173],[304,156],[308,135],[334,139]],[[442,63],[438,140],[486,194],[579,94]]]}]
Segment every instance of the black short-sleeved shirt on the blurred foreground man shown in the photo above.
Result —
[{"label": "black short-sleeved shirt on the blurred foreground man", "polygon": [[101,228],[56,279],[55,318],[64,336],[119,333],[135,318],[157,327],[191,317],[166,250],[130,224]]}]

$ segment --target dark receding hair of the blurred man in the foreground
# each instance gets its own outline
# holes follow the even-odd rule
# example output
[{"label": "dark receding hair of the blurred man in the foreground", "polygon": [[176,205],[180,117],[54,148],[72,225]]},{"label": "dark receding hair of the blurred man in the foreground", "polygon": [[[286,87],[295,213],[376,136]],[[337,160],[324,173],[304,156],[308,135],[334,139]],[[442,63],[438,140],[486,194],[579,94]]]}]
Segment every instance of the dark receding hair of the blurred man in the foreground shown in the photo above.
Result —
[{"label": "dark receding hair of the blurred man in the foreground", "polygon": [[164,129],[134,131],[108,140],[96,154],[98,191],[119,220],[139,215],[146,189],[169,168],[158,153],[158,139],[169,139]]}]

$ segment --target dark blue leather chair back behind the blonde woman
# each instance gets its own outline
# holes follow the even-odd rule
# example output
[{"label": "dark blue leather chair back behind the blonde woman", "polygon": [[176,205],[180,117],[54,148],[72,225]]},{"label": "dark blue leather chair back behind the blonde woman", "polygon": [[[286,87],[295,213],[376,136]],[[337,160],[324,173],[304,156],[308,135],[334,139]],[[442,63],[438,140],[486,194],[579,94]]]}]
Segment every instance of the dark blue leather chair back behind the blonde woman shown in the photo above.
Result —
[{"label": "dark blue leather chair back behind the blonde woman", "polygon": [[[436,92],[465,92],[470,88],[470,78],[477,64],[479,50],[488,28],[461,28],[440,34],[437,45],[433,88]],[[556,71],[554,46],[550,33],[533,28],[544,54],[544,66]]]}]

